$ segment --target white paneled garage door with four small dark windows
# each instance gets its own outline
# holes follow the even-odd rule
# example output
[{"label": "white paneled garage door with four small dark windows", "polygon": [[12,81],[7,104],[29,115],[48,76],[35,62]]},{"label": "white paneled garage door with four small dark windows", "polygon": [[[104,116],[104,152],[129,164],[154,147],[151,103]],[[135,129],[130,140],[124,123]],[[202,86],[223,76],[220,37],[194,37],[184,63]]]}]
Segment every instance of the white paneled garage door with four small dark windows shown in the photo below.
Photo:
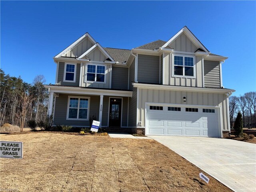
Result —
[{"label": "white paneled garage door with four small dark windows", "polygon": [[148,105],[146,134],[221,137],[218,108]]}]

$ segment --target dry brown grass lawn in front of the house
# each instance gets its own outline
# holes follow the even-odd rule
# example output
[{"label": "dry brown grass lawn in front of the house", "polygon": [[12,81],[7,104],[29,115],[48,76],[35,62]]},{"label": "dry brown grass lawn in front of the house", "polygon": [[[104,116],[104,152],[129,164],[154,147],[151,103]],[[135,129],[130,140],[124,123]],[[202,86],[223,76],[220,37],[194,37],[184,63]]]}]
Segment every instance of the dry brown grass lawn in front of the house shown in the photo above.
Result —
[{"label": "dry brown grass lawn in front of the house", "polygon": [[56,133],[4,135],[22,141],[23,159],[1,159],[1,189],[90,192],[228,192],[154,140]]}]

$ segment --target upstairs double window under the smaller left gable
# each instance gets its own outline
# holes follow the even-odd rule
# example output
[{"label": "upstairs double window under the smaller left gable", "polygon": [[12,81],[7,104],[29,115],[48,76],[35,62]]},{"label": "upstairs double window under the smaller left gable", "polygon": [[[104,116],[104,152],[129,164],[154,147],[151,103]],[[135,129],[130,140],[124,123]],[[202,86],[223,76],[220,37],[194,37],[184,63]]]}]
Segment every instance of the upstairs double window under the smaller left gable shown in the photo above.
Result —
[{"label": "upstairs double window under the smaller left gable", "polygon": [[87,65],[86,81],[105,82],[105,66]]}]

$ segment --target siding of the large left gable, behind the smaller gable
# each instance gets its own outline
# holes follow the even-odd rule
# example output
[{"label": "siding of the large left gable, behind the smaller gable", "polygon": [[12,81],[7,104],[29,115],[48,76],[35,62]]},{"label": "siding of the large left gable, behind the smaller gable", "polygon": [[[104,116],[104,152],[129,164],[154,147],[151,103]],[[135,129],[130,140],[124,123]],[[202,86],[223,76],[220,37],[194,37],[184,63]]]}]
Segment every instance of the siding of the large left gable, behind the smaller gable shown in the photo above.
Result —
[{"label": "siding of the large left gable, behind the smaller gable", "polygon": [[72,50],[62,55],[64,57],[80,57],[84,52],[90,49],[94,44],[88,39],[84,39],[78,45],[76,45]]}]

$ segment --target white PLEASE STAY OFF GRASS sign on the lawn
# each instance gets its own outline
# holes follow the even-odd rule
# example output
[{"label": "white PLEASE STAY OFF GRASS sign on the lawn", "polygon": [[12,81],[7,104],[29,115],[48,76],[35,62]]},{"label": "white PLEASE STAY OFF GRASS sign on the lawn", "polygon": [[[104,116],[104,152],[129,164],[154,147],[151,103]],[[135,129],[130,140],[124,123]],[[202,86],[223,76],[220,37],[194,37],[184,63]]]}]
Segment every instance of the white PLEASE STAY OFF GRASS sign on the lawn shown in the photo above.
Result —
[{"label": "white PLEASE STAY OFF GRASS sign on the lawn", "polygon": [[0,157],[22,159],[22,142],[0,141]]}]

